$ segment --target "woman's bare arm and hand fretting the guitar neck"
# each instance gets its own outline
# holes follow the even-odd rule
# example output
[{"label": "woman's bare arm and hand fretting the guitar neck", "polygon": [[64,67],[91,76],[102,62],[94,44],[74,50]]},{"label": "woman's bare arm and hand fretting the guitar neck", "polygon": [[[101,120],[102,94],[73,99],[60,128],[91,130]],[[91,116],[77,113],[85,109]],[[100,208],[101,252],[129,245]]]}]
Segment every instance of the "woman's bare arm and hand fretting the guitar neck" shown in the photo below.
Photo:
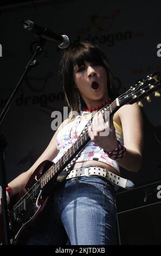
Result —
[{"label": "woman's bare arm and hand fretting the guitar neck", "polygon": [[[137,103],[124,105],[118,110],[118,117],[123,127],[126,154],[121,159],[118,159],[117,162],[121,167],[130,170],[130,172],[138,172],[141,166],[143,147],[143,120],[141,111]],[[100,132],[104,132],[105,129],[106,124],[102,114],[96,113],[92,125],[89,126],[88,134],[92,141],[108,152],[114,150],[118,145],[112,119],[110,120],[109,135],[100,136]]]}]

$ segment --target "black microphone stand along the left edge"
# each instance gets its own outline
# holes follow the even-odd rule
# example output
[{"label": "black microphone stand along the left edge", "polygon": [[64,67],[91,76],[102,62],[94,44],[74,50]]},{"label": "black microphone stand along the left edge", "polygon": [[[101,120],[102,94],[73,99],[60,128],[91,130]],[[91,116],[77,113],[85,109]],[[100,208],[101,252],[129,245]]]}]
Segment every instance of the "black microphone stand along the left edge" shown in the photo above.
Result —
[{"label": "black microphone stand along the left edge", "polygon": [[[38,66],[38,62],[35,59],[35,57],[38,56],[38,54],[40,54],[42,52],[43,49],[43,45],[46,42],[45,39],[40,38],[40,42],[38,43],[38,45],[36,46],[36,50],[33,54],[33,56],[31,57],[31,59],[29,60],[27,66],[25,66],[24,72],[20,78],[20,80],[18,81],[15,89],[13,90],[13,92],[11,93],[8,102],[6,103],[2,113],[0,114],[0,125],[2,124],[2,120],[5,117],[5,115],[7,114],[11,103],[14,101],[15,95],[18,92],[18,90],[20,89],[25,76],[27,76],[28,72],[30,71],[31,68]],[[7,178],[5,176],[5,160],[4,160],[4,150],[7,147],[7,142],[5,141],[4,136],[2,135],[2,133],[0,132],[0,199],[1,199],[1,203],[2,203],[2,225],[3,225],[3,244],[4,245],[10,245],[10,243],[12,243],[12,241],[10,241],[10,237],[9,237],[9,220],[8,220],[8,209],[7,209],[7,197],[6,197],[6,191],[5,188],[7,187]]]}]

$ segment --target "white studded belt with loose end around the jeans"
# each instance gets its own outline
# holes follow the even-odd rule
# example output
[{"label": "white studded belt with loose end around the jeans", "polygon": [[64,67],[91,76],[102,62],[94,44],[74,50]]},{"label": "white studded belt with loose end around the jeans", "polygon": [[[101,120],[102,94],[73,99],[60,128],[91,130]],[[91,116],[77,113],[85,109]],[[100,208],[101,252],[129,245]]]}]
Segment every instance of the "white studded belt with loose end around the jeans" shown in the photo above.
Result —
[{"label": "white studded belt with loose end around the jeans", "polygon": [[124,187],[126,189],[130,189],[134,187],[134,184],[131,180],[124,179],[119,175],[116,175],[110,172],[107,169],[101,167],[81,167],[78,169],[71,170],[66,179],[82,177],[82,176],[101,176],[106,178],[114,185],[118,185],[120,187]]}]

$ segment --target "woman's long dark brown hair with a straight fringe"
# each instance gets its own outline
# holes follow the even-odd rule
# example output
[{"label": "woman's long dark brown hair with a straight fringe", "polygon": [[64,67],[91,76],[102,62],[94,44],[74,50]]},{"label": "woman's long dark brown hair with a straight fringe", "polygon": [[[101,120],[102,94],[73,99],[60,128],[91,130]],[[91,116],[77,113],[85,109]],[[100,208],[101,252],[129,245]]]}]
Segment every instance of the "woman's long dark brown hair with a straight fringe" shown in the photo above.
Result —
[{"label": "woman's long dark brown hair with a straight fringe", "polygon": [[[74,44],[70,44],[70,46],[63,52],[59,69],[59,74],[63,84],[63,91],[71,112],[79,112],[79,92],[78,89],[75,88],[74,84],[74,66],[81,66],[85,61],[94,62],[98,65],[104,66],[107,72],[108,95],[112,100],[118,96],[114,87],[113,74],[104,52],[102,52],[97,45],[94,45],[91,42],[75,42]],[[82,107],[85,107],[85,102],[82,98],[81,105],[84,105]]]}]

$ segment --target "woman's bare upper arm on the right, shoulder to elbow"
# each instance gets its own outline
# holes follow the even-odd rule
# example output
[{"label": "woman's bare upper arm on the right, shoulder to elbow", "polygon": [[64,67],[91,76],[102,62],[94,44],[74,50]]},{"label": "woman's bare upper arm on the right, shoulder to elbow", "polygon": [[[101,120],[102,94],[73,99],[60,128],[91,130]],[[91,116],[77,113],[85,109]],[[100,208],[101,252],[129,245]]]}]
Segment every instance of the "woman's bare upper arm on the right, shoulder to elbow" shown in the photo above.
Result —
[{"label": "woman's bare upper arm on the right, shoulder to elbow", "polygon": [[143,118],[137,103],[121,107],[119,118],[123,127],[126,154],[117,161],[126,170],[138,172],[143,150]]}]

